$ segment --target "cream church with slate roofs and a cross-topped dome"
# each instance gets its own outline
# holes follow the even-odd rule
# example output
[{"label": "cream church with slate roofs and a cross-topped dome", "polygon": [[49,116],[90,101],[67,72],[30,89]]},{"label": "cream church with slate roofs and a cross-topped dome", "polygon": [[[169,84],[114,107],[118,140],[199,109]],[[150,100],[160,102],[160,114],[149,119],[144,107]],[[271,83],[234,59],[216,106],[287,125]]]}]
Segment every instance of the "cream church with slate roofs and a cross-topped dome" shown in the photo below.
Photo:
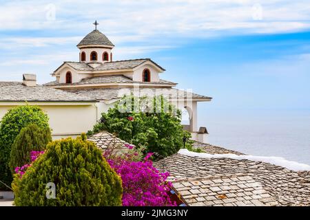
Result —
[{"label": "cream church with slate roofs and a cross-topped dome", "polygon": [[210,97],[176,89],[177,83],[161,79],[165,69],[150,58],[113,60],[114,44],[97,30],[87,34],[77,45],[79,61],[65,61],[54,72],[54,81],[37,85],[34,74],[24,74],[23,82],[0,81],[0,118],[13,106],[39,105],[50,117],[54,139],[76,136],[92,129],[101,113],[125,94],[159,96],[186,109],[189,124],[184,129],[194,140],[206,142],[207,129],[198,129],[197,104]]}]

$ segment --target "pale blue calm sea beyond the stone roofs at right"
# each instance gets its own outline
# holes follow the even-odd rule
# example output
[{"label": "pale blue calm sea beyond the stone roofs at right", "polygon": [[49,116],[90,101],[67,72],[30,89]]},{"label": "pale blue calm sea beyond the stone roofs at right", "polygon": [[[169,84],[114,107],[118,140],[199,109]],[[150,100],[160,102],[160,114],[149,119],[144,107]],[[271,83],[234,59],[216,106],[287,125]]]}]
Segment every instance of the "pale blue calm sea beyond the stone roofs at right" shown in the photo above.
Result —
[{"label": "pale blue calm sea beyond the stone roofs at right", "polygon": [[310,110],[198,112],[208,142],[256,156],[276,156],[310,165]]}]

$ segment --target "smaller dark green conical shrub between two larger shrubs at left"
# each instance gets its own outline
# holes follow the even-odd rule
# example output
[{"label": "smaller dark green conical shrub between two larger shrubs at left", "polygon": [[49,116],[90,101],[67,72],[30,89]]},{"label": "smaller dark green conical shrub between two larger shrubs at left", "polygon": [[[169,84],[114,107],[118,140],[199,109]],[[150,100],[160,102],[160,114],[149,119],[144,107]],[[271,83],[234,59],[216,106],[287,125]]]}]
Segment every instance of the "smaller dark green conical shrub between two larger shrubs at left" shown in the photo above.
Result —
[{"label": "smaller dark green conical shrub between two larger shrubs at left", "polygon": [[14,168],[29,164],[31,151],[44,151],[46,145],[52,141],[50,128],[40,128],[36,124],[30,124],[23,129],[11,148],[10,168],[14,173]]}]

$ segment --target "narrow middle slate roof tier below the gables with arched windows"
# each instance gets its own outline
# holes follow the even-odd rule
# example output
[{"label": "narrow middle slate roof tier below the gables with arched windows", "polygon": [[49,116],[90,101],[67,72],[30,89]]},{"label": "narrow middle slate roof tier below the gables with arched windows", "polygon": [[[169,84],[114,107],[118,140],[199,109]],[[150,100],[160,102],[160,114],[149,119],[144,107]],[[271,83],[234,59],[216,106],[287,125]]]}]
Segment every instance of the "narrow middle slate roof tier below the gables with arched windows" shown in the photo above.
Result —
[{"label": "narrow middle slate roof tier below the gables with arched windows", "polygon": [[[136,82],[131,78],[128,78],[123,75],[109,75],[109,76],[94,76],[90,78],[84,78],[79,83],[72,83],[70,85],[87,85],[87,84],[98,84],[98,83],[140,83],[140,84],[169,84],[176,85],[176,83],[169,82],[167,80],[159,80],[159,82]],[[68,85],[66,83],[58,83],[56,80],[50,83],[46,83],[47,86],[56,86],[56,85]],[[70,86],[68,85],[68,86]]]}]

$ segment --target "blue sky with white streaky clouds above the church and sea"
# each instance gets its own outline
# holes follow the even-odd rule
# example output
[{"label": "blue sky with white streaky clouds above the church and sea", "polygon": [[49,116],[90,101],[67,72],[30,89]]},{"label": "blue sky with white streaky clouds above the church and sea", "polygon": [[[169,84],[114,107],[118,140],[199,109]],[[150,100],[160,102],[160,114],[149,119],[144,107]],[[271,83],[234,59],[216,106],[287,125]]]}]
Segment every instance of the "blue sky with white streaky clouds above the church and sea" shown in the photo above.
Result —
[{"label": "blue sky with white streaky clouds above the church and sea", "polygon": [[309,0],[0,0],[0,80],[54,80],[79,60],[95,20],[114,60],[152,58],[161,78],[213,97],[198,105],[201,125],[234,111],[310,110]]}]

